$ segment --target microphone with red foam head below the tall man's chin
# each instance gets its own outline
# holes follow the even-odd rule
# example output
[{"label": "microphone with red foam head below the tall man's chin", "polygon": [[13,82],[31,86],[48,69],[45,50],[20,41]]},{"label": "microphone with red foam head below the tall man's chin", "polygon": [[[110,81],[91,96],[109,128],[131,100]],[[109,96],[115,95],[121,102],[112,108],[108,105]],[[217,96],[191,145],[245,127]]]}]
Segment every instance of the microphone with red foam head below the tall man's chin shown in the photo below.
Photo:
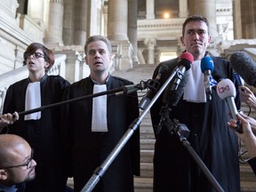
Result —
[{"label": "microphone with red foam head below the tall man's chin", "polygon": [[194,61],[194,57],[190,52],[182,52],[180,58],[178,60],[178,72],[176,74],[176,78],[174,79],[174,83],[172,84],[171,90],[177,90],[184,76],[184,72],[191,68],[192,62]]}]

